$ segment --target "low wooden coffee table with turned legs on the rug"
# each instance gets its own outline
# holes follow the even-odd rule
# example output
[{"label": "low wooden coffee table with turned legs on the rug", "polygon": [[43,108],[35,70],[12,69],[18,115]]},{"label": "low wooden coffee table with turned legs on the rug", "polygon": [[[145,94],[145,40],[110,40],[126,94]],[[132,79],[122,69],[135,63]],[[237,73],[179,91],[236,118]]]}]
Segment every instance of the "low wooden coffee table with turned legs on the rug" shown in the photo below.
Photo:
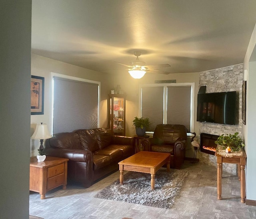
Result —
[{"label": "low wooden coffee table with turned legs on the rug", "polygon": [[151,174],[151,189],[155,189],[155,176],[164,164],[167,164],[167,172],[170,172],[170,154],[159,152],[138,152],[119,164],[120,184],[124,183],[124,170]]}]

